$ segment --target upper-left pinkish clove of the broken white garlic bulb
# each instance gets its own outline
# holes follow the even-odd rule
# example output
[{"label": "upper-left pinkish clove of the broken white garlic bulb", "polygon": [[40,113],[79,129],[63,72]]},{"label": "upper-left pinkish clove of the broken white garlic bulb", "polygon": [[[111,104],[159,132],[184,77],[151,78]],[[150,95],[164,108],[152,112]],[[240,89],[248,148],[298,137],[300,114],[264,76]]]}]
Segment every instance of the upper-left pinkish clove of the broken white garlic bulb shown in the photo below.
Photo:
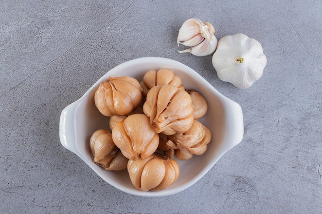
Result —
[{"label": "upper-left pinkish clove of the broken white garlic bulb", "polygon": [[183,23],[179,29],[177,44],[184,41],[190,40],[195,35],[198,35],[200,32],[200,26],[203,25],[203,22],[199,18],[189,18]]}]

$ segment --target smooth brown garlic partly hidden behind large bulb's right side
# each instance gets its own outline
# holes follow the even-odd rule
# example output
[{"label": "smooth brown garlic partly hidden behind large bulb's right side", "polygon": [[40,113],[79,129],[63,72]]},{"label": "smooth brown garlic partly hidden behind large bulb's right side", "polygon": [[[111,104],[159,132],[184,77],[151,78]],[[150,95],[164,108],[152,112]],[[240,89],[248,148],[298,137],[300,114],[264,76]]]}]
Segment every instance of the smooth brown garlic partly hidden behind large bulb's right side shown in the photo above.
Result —
[{"label": "smooth brown garlic partly hidden behind large bulb's right side", "polygon": [[198,91],[187,90],[187,92],[190,94],[192,101],[193,118],[194,120],[198,120],[202,118],[208,110],[207,101]]}]

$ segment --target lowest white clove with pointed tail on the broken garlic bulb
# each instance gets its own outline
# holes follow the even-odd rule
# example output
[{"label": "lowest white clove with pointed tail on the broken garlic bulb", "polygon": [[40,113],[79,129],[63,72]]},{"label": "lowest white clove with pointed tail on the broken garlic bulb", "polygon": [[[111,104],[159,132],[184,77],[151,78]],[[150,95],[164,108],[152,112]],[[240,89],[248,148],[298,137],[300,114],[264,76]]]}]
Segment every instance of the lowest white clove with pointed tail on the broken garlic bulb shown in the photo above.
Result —
[{"label": "lowest white clove with pointed tail on the broken garlic bulb", "polygon": [[191,48],[178,51],[179,53],[191,53],[195,56],[207,56],[213,53],[217,47],[216,36],[211,36],[210,40],[203,40],[200,44],[195,45]]}]

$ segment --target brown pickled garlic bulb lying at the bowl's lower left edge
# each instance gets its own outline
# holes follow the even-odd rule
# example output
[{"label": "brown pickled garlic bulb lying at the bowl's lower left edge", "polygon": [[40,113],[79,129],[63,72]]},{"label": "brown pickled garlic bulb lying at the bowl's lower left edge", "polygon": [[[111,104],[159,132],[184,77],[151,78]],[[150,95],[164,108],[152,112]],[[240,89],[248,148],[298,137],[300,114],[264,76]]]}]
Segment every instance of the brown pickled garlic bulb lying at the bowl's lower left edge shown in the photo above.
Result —
[{"label": "brown pickled garlic bulb lying at the bowl's lower left edge", "polygon": [[90,148],[94,163],[106,170],[118,171],[127,168],[128,159],[115,146],[109,130],[95,131],[90,139]]}]

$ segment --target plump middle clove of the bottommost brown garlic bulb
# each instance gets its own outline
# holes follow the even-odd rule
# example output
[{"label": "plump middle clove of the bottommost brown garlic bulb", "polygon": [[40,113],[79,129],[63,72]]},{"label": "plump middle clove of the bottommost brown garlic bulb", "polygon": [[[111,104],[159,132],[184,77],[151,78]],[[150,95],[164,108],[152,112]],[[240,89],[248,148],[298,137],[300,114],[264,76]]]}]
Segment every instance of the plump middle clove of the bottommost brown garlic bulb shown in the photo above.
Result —
[{"label": "plump middle clove of the bottommost brown garlic bulb", "polygon": [[166,174],[166,166],[162,159],[153,158],[145,165],[141,175],[141,190],[148,191],[157,187]]}]

